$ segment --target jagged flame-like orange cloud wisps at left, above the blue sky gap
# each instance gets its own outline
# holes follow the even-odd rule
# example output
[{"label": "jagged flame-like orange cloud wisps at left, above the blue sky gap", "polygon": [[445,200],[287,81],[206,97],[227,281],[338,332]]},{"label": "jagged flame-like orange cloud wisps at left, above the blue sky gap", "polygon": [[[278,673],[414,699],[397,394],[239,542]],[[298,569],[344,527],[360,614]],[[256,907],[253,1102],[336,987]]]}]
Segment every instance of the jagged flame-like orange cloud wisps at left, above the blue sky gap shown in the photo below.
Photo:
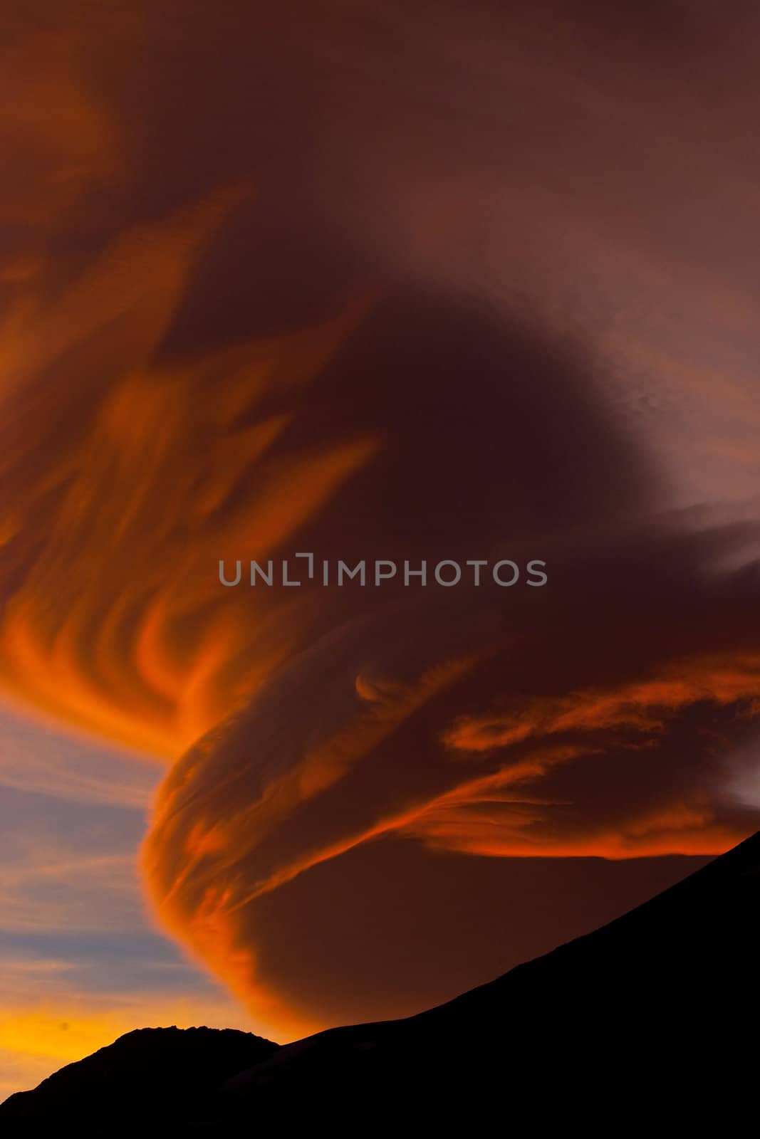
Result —
[{"label": "jagged flame-like orange cloud wisps at left, above the blue sky gap", "polygon": [[[361,305],[181,370],[155,362],[226,199],[119,237],[55,303],[32,295],[0,329],[0,677],[46,712],[161,756],[222,719],[287,652],[288,623],[308,621],[295,605],[286,617],[260,597],[230,601],[218,559],[265,556],[374,445],[271,453]],[[47,369],[55,388],[38,378]],[[272,400],[276,412],[258,410]]]}]

